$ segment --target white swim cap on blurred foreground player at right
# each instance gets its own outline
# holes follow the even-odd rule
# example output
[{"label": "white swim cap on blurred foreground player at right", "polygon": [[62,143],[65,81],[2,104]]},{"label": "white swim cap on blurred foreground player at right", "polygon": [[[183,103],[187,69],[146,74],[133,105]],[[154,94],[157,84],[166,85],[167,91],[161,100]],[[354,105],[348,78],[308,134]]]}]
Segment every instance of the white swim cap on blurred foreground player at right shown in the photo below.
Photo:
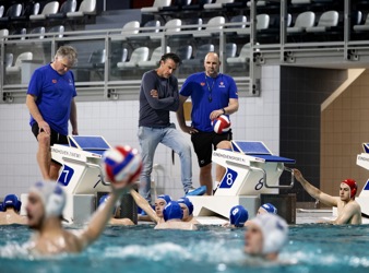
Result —
[{"label": "white swim cap on blurred foreground player at right", "polygon": [[288,225],[276,214],[258,214],[251,219],[263,234],[263,254],[279,252],[288,237]]}]

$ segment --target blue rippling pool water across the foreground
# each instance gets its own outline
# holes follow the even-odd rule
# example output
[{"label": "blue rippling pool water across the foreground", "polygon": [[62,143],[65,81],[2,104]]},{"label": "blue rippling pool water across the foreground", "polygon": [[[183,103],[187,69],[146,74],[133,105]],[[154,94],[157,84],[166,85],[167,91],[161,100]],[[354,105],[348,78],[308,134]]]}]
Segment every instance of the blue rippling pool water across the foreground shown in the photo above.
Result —
[{"label": "blue rippling pool water across the foreground", "polygon": [[246,256],[246,229],[201,226],[195,232],[153,225],[107,227],[79,254],[29,257],[26,226],[0,226],[0,272],[369,272],[369,226],[303,224],[290,227],[279,263]]}]

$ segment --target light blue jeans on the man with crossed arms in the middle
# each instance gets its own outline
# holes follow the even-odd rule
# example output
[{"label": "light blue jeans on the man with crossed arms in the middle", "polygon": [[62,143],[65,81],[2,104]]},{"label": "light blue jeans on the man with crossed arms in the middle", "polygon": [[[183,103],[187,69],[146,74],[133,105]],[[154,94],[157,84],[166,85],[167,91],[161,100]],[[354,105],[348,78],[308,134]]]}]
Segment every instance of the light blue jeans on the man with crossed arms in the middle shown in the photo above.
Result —
[{"label": "light blue jeans on the man with crossed arms in the middle", "polygon": [[140,176],[140,194],[151,203],[151,173],[153,170],[155,150],[159,143],[170,147],[179,155],[181,179],[184,193],[187,193],[192,187],[192,159],[191,145],[187,142],[183,133],[175,127],[139,127],[138,135],[143,162]]}]

